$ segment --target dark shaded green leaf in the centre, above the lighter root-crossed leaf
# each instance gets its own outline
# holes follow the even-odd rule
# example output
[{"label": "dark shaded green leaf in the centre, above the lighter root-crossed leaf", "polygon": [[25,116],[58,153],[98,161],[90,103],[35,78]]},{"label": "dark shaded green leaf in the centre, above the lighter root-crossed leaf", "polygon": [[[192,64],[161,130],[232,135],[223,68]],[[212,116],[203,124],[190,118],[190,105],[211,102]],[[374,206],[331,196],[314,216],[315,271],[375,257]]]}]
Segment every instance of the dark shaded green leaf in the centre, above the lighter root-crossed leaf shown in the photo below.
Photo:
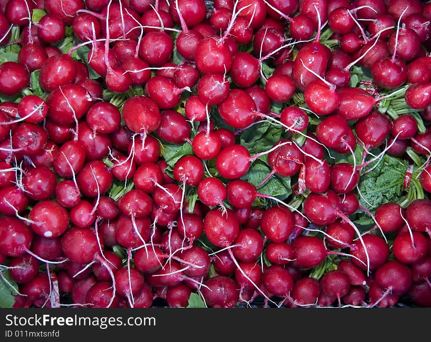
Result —
[{"label": "dark shaded green leaf in the centre, above the lighter root-crossed leaf", "polygon": [[281,139],[283,129],[270,122],[262,121],[241,133],[240,143],[251,154],[270,150]]}]

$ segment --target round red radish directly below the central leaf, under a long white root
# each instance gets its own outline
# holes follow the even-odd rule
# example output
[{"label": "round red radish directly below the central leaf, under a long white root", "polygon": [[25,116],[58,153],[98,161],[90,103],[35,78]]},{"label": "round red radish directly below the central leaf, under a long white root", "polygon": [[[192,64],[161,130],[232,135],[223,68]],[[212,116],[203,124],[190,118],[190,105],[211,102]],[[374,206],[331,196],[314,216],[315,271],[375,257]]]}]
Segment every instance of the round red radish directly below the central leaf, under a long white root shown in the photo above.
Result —
[{"label": "round red radish directly below the central leaf, under a long white root", "polygon": [[271,207],[262,215],[261,229],[269,240],[283,242],[292,233],[293,223],[293,214],[290,211],[279,207]]}]

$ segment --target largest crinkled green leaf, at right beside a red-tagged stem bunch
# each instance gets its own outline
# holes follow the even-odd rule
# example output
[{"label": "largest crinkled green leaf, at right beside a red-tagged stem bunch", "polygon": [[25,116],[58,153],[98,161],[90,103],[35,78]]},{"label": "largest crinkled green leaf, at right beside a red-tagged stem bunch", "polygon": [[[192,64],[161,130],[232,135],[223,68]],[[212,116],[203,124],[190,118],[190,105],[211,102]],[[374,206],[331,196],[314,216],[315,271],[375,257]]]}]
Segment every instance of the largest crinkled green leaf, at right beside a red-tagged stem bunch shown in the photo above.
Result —
[{"label": "largest crinkled green leaf, at right beside a red-tagged stem bunch", "polygon": [[[371,163],[367,168],[372,168],[376,163]],[[407,162],[386,154],[373,171],[360,178],[359,204],[374,211],[382,203],[397,202],[403,190],[407,167]]]}]

